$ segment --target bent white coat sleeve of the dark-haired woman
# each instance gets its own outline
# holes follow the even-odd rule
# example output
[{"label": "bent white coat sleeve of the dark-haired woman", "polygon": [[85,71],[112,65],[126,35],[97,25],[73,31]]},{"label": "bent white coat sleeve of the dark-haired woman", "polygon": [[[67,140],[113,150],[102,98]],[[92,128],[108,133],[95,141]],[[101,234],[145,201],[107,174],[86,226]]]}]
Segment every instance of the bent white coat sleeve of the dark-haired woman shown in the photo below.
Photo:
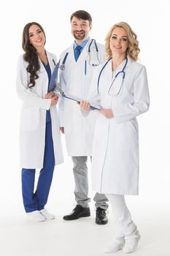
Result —
[{"label": "bent white coat sleeve of the dark-haired woman", "polygon": [[18,59],[16,89],[18,97],[26,104],[46,110],[50,109],[51,99],[42,99],[42,97],[39,97],[38,94],[28,88],[28,72],[26,70],[26,64],[24,64],[23,56],[20,56]]}]

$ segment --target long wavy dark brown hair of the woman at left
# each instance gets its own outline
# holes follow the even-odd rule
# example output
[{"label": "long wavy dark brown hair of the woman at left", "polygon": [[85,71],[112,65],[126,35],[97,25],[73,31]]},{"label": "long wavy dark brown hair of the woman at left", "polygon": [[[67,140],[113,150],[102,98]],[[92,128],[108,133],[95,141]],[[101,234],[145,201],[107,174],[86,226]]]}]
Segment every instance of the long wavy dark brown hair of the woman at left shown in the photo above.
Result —
[{"label": "long wavy dark brown hair of the woman at left", "polygon": [[[34,48],[34,46],[31,45],[31,43],[29,42],[29,28],[32,25],[39,26],[39,29],[42,30],[43,34],[45,34],[45,31],[42,28],[42,26],[36,22],[27,23],[23,29],[22,47],[25,52],[23,54],[23,59],[28,62],[28,67],[26,68],[26,70],[30,73],[30,80],[28,81],[29,88],[35,86],[35,80],[39,78],[36,72],[40,69],[39,58],[36,52],[36,48]],[[46,40],[46,37],[45,37],[45,40]]]}]

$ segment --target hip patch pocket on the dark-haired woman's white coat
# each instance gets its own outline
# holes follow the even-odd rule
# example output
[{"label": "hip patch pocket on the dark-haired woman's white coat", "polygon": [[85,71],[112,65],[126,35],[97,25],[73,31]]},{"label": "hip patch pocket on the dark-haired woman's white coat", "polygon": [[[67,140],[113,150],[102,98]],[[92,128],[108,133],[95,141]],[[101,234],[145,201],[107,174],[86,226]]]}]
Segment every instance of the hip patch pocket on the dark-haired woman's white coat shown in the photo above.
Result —
[{"label": "hip patch pocket on the dark-haired woman's white coat", "polygon": [[23,108],[20,116],[20,129],[34,131],[39,125],[39,108],[30,106]]}]

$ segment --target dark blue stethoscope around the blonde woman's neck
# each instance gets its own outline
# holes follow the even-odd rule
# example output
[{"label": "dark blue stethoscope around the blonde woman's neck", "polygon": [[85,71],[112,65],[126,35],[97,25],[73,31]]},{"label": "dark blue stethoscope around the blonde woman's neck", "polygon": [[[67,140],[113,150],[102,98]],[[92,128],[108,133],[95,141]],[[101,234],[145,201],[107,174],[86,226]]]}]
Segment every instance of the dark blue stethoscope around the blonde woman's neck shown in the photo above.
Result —
[{"label": "dark blue stethoscope around the blonde woman's neck", "polygon": [[[104,67],[102,67],[102,69],[101,69],[101,71],[100,71],[100,73],[99,73],[99,75],[98,75],[98,83],[97,83],[97,92],[98,92],[98,94],[99,94],[99,83],[100,83],[101,73],[104,71],[104,68],[107,66],[107,64],[109,63],[109,61],[110,61],[111,59],[112,59],[112,57],[108,59],[108,61],[104,64]],[[121,87],[122,87],[123,80],[124,80],[124,78],[125,78],[125,67],[127,66],[127,63],[128,63],[128,57],[126,56],[126,58],[125,58],[125,64],[124,64],[124,66],[123,66],[123,69],[122,69],[121,71],[117,72],[117,74],[115,75],[115,78],[114,78],[114,80],[112,81],[111,86],[109,87],[108,94],[110,93],[110,89],[112,88],[112,85],[113,85],[115,79],[116,79],[118,76],[120,76],[120,86],[119,86],[119,88],[117,89],[117,91],[115,91],[114,94],[115,94],[115,95],[118,95],[118,94],[120,93],[120,89],[121,89]],[[109,95],[110,95],[110,94],[109,94]]]}]

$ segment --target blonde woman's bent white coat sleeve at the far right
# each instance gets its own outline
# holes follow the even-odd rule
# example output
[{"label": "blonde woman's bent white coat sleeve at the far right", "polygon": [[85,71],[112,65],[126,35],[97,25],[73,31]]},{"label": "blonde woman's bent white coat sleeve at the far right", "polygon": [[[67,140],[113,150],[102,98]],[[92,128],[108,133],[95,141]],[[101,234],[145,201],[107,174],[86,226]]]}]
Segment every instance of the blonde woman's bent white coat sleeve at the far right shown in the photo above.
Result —
[{"label": "blonde woman's bent white coat sleeve at the far right", "polygon": [[147,72],[144,66],[134,78],[134,102],[118,102],[112,109],[117,123],[129,121],[146,112],[150,105],[149,90],[147,84]]}]

